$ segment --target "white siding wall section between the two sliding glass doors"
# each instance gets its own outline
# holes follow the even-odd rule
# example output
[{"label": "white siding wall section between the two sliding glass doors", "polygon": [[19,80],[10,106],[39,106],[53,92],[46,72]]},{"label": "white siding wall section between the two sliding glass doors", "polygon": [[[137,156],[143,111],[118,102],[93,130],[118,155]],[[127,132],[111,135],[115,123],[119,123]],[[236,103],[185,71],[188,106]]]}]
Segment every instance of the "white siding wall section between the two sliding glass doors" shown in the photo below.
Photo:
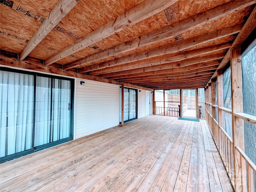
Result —
[{"label": "white siding wall section between the two sliding glass doors", "polygon": [[92,80],[76,81],[75,138],[119,124],[119,86]]}]

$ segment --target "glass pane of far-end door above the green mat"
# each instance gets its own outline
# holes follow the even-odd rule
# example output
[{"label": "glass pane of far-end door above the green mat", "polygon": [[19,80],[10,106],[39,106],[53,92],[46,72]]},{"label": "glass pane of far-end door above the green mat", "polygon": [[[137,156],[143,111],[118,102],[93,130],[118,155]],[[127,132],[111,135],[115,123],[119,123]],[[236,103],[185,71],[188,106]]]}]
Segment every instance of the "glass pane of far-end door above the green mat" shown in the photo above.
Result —
[{"label": "glass pane of far-end door above the green mat", "polygon": [[182,117],[196,118],[196,90],[182,90]]}]

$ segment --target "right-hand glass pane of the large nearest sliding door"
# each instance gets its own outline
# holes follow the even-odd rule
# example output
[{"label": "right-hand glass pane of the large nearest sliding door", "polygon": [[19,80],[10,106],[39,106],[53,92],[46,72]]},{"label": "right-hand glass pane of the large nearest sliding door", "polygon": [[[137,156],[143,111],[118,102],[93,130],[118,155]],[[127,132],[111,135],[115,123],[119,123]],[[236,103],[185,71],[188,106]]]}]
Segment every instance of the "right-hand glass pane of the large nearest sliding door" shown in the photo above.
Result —
[{"label": "right-hand glass pane of the large nearest sliding door", "polygon": [[70,80],[36,77],[34,146],[70,136]]}]

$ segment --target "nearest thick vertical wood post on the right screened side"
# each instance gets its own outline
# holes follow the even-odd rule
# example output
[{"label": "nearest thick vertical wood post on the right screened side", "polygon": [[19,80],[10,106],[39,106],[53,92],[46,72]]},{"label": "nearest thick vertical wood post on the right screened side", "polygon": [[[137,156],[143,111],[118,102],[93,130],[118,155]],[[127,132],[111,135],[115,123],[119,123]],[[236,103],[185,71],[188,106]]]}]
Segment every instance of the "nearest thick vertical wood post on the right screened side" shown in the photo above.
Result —
[{"label": "nearest thick vertical wood post on the right screened side", "polygon": [[234,150],[234,185],[236,191],[243,191],[246,189],[246,178],[243,177],[242,172],[245,171],[245,163],[241,161],[240,153],[236,152],[236,146],[244,151],[244,121],[236,116],[234,113],[243,112],[242,100],[242,63],[241,63],[240,47],[231,49],[231,96],[232,96],[232,138]]}]

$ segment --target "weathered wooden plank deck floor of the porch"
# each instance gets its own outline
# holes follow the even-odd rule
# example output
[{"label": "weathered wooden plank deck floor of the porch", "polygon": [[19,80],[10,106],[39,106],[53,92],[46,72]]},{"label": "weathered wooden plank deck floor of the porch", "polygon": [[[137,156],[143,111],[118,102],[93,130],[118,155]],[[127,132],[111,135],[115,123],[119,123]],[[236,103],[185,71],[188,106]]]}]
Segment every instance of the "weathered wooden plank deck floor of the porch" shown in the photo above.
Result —
[{"label": "weathered wooden plank deck floor of the porch", "polygon": [[1,191],[233,191],[205,120],[147,116],[0,166]]}]

